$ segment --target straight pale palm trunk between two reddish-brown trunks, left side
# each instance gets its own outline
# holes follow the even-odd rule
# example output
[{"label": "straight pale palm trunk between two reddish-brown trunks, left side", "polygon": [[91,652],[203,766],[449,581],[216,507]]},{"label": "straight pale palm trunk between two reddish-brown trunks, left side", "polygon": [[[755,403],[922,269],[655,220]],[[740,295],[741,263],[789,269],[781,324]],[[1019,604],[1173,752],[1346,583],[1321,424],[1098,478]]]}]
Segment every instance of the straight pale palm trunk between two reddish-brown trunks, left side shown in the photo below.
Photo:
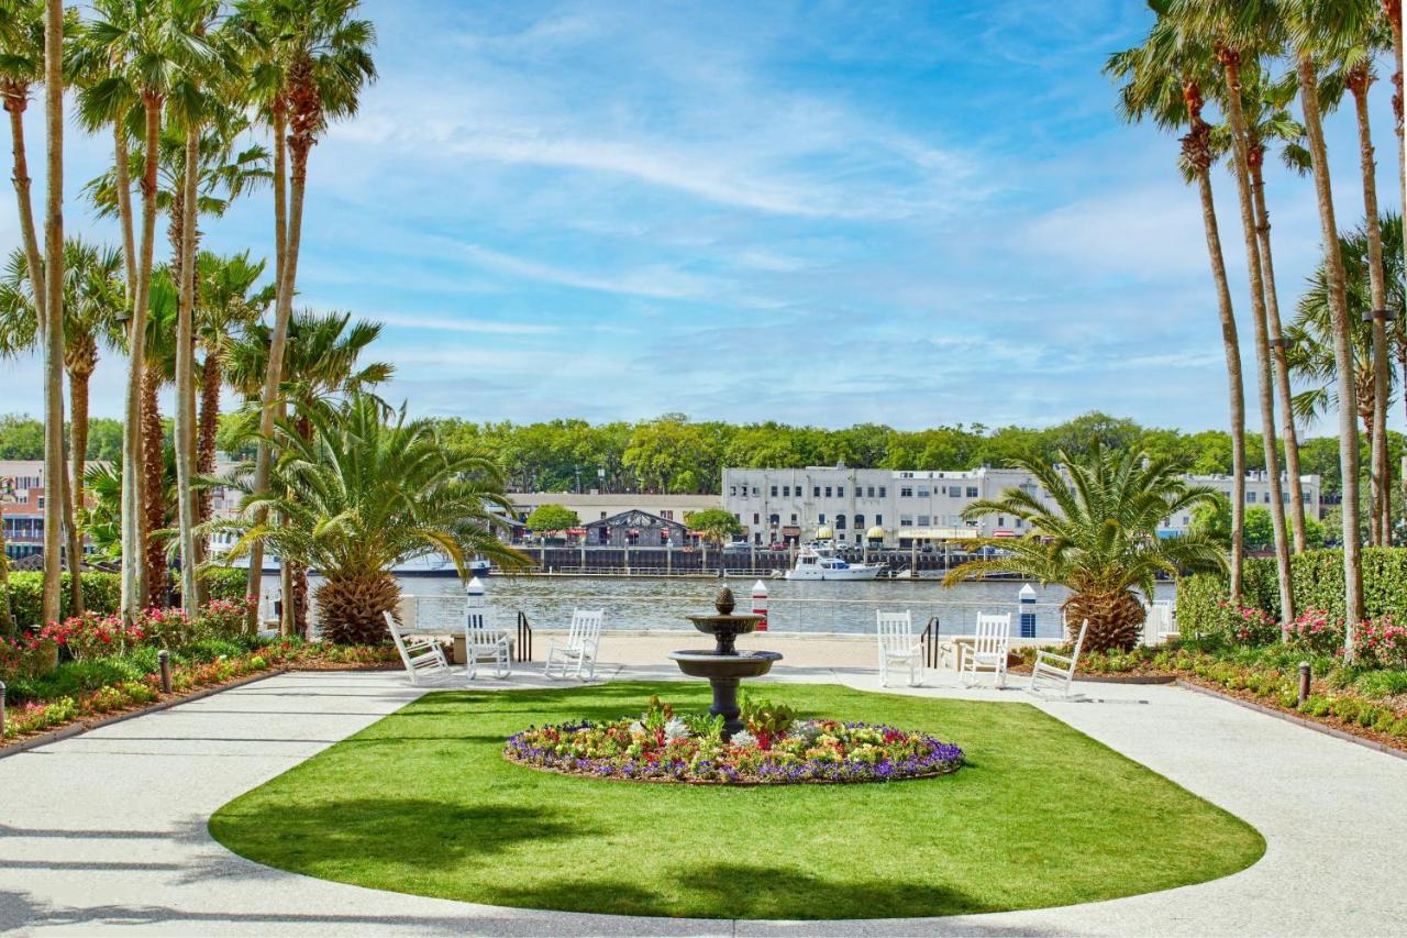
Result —
[{"label": "straight pale palm trunk between two reddish-brown trunks, left side", "polygon": [[196,596],[196,480],[191,451],[196,441],[196,331],[194,270],[196,266],[196,168],[200,156],[200,128],[187,121],[186,165],[182,192],[184,211],[180,215],[182,263],[180,300],[176,313],[176,527],[180,539],[180,597],[187,615],[198,611]]}]

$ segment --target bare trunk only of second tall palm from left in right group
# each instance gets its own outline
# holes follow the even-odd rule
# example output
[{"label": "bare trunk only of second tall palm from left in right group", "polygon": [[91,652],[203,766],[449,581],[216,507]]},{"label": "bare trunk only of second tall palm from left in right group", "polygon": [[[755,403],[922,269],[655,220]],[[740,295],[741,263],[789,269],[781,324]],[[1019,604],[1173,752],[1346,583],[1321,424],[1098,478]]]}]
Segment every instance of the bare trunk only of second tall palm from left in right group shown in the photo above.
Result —
[{"label": "bare trunk only of second tall palm from left in right group", "polygon": [[1245,234],[1245,266],[1251,280],[1251,323],[1255,327],[1256,383],[1261,390],[1261,438],[1265,441],[1265,470],[1271,487],[1271,521],[1275,530],[1275,569],[1280,584],[1280,621],[1294,620],[1294,586],[1290,580],[1290,548],[1285,530],[1285,503],[1280,494],[1280,456],[1275,442],[1275,390],[1271,383],[1271,344],[1266,328],[1265,279],[1261,272],[1261,248],[1256,244],[1254,199],[1245,132],[1241,110],[1241,59],[1225,46],[1218,48],[1225,70],[1227,118],[1235,149],[1233,176],[1241,203],[1241,228]]}]

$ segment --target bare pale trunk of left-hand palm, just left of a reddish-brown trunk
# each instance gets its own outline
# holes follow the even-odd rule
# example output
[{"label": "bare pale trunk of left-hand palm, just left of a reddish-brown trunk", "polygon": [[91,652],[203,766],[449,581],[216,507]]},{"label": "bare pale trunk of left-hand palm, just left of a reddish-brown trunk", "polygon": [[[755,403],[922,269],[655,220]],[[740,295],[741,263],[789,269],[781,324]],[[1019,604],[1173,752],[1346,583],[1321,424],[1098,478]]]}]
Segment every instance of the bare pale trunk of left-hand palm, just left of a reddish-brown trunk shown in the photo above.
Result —
[{"label": "bare pale trunk of left-hand palm, just left of a reddish-brown trunk", "polygon": [[[145,507],[151,501],[145,492],[142,466],[148,462],[144,452],[146,442],[146,427],[142,420],[145,386],[146,386],[146,313],[152,293],[152,254],[156,235],[156,152],[158,139],[162,130],[162,100],[155,94],[144,94],[142,104],[146,111],[146,141],[145,152],[148,159],[142,172],[142,246],[141,258],[136,263],[136,292],[132,297],[132,321],[127,330],[128,348],[128,377],[127,377],[127,415],[122,427],[122,617],[128,621],[135,617],[141,603],[159,590],[159,583],[153,583],[146,576],[151,569],[144,563],[144,558],[151,556],[151,545],[144,537],[142,518]],[[159,425],[158,425],[159,430]],[[160,435],[156,438],[156,458],[160,461]],[[160,499],[160,484],[158,483],[158,500]],[[142,568],[142,573],[138,569]]]}]

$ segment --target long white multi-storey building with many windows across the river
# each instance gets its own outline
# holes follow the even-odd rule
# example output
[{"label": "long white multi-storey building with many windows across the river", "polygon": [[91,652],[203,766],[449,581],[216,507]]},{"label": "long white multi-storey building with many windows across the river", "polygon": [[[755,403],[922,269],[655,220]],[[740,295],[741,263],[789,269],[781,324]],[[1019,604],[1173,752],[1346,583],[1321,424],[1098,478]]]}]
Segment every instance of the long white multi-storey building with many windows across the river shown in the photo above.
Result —
[{"label": "long white multi-storey building with many windows across the river", "polygon": [[[1189,475],[1231,496],[1231,476]],[[1320,477],[1301,476],[1304,507],[1320,517]],[[1289,486],[1282,486],[1289,500]],[[747,531],[753,544],[806,541],[822,528],[839,544],[910,548],[915,544],[957,541],[971,537],[1020,537],[1019,518],[988,515],[964,521],[962,511],[979,499],[998,499],[1007,489],[1024,489],[1054,507],[1050,494],[1023,469],[982,466],[968,470],[891,470],[850,466],[805,469],[725,469],[723,507]],[[1263,472],[1248,473],[1247,506],[1271,503],[1271,480]],[[1190,513],[1164,520],[1161,535],[1185,532]]]}]

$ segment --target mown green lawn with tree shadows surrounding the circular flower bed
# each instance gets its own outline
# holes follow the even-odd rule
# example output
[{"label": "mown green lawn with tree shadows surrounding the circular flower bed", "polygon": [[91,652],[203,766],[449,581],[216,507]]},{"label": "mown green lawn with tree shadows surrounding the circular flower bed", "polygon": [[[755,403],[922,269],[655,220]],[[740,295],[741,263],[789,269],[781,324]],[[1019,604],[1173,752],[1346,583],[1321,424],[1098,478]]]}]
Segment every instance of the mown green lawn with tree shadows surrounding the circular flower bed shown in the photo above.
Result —
[{"label": "mown green lawn with tree shadows surrounding the circular flower bed", "polygon": [[947,915],[1088,903],[1225,876],[1265,841],[1020,703],[772,684],[803,715],[926,730],[968,765],[891,784],[604,782],[499,756],[511,732],[637,713],[706,684],[435,693],[231,801],[260,863],[495,906],[716,918]]}]

